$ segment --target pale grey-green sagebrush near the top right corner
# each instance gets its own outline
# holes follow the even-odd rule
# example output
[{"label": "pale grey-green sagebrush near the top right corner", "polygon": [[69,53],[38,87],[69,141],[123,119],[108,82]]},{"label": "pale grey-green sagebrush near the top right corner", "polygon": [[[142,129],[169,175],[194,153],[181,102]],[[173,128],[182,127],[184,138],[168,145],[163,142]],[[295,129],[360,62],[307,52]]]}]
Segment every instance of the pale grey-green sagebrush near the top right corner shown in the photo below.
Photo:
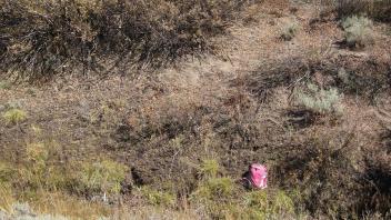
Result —
[{"label": "pale grey-green sagebrush near the top right corner", "polygon": [[372,21],[365,17],[349,17],[342,21],[342,28],[349,47],[365,47],[373,42]]}]

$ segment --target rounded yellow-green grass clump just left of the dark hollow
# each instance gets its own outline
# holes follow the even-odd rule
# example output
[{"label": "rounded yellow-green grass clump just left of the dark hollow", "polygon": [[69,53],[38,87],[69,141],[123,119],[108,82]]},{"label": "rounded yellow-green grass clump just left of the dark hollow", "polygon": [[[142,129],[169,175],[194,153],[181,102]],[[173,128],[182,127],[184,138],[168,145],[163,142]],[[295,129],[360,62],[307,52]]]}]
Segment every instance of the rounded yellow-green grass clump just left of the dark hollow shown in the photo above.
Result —
[{"label": "rounded yellow-green grass clump just left of the dark hollow", "polygon": [[79,172],[79,186],[84,192],[119,193],[128,167],[109,159],[94,162],[83,162]]}]

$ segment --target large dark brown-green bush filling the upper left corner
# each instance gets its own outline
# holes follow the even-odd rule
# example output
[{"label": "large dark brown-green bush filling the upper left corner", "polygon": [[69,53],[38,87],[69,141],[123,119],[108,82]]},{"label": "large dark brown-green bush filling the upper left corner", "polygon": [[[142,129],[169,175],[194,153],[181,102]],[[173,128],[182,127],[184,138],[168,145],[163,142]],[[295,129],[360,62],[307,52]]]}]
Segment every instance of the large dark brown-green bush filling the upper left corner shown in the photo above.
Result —
[{"label": "large dark brown-green bush filling the upper left corner", "polygon": [[213,52],[247,0],[0,0],[0,68],[17,79],[161,67]]}]

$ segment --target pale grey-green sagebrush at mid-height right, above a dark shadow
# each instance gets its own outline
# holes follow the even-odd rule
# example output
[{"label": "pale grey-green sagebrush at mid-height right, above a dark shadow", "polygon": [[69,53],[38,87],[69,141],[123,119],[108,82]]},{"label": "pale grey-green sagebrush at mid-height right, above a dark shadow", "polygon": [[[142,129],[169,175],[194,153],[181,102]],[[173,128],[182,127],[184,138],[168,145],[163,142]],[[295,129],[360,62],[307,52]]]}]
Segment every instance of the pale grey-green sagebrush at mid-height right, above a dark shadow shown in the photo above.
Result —
[{"label": "pale grey-green sagebrush at mid-height right, above a dark shadow", "polygon": [[297,101],[299,106],[318,113],[342,113],[342,94],[335,88],[319,89],[309,83],[305,90],[299,90]]}]

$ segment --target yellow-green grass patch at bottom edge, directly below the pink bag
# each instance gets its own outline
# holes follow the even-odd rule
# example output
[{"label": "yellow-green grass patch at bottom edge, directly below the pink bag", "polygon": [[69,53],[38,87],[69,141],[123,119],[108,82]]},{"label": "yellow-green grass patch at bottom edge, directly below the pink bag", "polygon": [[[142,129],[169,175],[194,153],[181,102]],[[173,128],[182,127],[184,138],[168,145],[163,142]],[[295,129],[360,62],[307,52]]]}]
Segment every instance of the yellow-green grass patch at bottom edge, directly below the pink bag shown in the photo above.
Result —
[{"label": "yellow-green grass patch at bottom edge, directly below the pink bag", "polygon": [[[217,182],[219,180],[211,180]],[[219,189],[229,186],[228,182],[219,184]],[[225,186],[225,187],[223,187]],[[205,187],[205,188],[203,188]],[[199,188],[200,189],[200,188]],[[201,209],[204,209],[209,216],[217,219],[281,219],[295,218],[295,204],[291,197],[282,190],[259,190],[243,191],[240,188],[230,189],[222,193],[221,191],[211,196],[214,186],[203,184],[201,190],[203,194],[196,194]],[[198,191],[200,192],[200,191]],[[208,192],[208,193],[205,193]],[[225,199],[224,199],[225,198]]]}]

